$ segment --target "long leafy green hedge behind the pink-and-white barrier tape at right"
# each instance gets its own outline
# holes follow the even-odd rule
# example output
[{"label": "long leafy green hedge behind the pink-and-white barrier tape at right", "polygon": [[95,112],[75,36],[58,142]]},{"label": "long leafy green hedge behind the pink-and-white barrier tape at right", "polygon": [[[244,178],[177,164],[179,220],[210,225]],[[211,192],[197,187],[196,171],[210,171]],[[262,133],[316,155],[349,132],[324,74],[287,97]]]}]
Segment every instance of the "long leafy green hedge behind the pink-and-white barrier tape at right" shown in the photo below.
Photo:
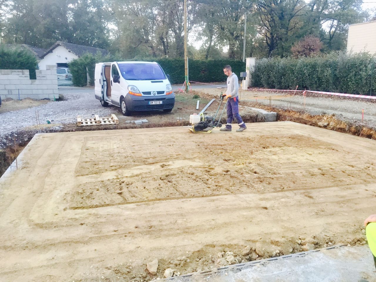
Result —
[{"label": "long leafy green hedge behind the pink-and-white barrier tape at right", "polygon": [[376,94],[376,55],[331,53],[311,58],[256,60],[252,86]]}]

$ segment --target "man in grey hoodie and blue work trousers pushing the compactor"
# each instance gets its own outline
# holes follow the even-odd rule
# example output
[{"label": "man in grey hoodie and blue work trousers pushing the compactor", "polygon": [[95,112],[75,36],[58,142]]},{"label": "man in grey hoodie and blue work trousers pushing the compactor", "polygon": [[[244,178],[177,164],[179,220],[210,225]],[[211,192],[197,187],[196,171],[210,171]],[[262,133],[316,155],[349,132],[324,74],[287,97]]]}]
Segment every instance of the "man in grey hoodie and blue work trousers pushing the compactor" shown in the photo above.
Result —
[{"label": "man in grey hoodie and blue work trousers pushing the compactor", "polygon": [[235,118],[238,125],[240,126],[237,129],[237,132],[242,132],[243,130],[247,129],[246,124],[240,117],[239,114],[239,80],[235,73],[232,72],[231,66],[226,65],[223,68],[224,74],[227,77],[227,91],[226,91],[226,99],[227,101],[227,124],[226,127],[221,128],[220,131],[231,131],[231,124],[232,120]]}]

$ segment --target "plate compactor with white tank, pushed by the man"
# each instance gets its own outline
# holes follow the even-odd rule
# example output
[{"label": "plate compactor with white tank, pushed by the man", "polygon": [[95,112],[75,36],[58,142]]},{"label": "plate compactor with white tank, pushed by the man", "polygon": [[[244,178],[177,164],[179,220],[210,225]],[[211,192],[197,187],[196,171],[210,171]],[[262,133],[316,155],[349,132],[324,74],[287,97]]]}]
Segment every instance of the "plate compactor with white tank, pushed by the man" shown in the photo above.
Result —
[{"label": "plate compactor with white tank, pushed by the man", "polygon": [[191,115],[190,122],[192,125],[189,126],[189,130],[191,130],[191,132],[193,133],[210,133],[215,127],[222,127],[221,117],[223,115],[224,109],[226,109],[227,100],[226,100],[226,103],[224,103],[223,110],[218,120],[216,120],[216,117],[219,112],[219,109],[221,108],[224,97],[226,97],[226,95],[223,95],[221,93],[220,94],[221,102],[219,103],[217,112],[215,113],[214,117],[205,116],[203,113],[200,115],[196,115],[196,114]]}]

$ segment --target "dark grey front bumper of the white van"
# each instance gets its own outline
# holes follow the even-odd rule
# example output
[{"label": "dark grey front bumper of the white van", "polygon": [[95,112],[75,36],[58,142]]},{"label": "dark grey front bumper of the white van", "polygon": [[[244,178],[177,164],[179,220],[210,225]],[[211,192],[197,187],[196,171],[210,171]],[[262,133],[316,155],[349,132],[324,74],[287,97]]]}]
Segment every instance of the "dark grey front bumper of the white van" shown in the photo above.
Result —
[{"label": "dark grey front bumper of the white van", "polygon": [[[149,102],[162,101],[162,104],[150,105]],[[175,94],[160,96],[134,96],[127,94],[125,103],[129,111],[157,111],[174,108]]]}]

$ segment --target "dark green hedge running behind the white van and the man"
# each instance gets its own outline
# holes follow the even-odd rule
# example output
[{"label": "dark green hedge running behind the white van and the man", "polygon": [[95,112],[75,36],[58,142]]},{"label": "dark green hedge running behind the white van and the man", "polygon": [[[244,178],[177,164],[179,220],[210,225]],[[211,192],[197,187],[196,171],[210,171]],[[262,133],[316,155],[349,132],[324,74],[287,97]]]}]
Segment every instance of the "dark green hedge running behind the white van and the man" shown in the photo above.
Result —
[{"label": "dark green hedge running behind the white van and the man", "polygon": [[[115,57],[101,57],[99,54],[93,56],[86,54],[78,59],[75,59],[69,63],[69,68],[73,76],[73,84],[76,86],[86,86],[86,68],[88,68],[88,74],[91,78],[91,85],[94,85],[94,69],[95,64],[99,62],[111,62],[119,58]],[[161,65],[166,74],[170,75],[171,83],[183,83],[185,80],[184,74],[184,59],[144,59],[145,61],[155,61]],[[141,60],[135,60],[141,61]],[[230,65],[232,71],[240,76],[241,71],[245,71],[246,64],[241,61],[233,60],[189,60],[189,80],[196,82],[219,82],[225,81],[226,76],[223,73],[223,67]]]}]

